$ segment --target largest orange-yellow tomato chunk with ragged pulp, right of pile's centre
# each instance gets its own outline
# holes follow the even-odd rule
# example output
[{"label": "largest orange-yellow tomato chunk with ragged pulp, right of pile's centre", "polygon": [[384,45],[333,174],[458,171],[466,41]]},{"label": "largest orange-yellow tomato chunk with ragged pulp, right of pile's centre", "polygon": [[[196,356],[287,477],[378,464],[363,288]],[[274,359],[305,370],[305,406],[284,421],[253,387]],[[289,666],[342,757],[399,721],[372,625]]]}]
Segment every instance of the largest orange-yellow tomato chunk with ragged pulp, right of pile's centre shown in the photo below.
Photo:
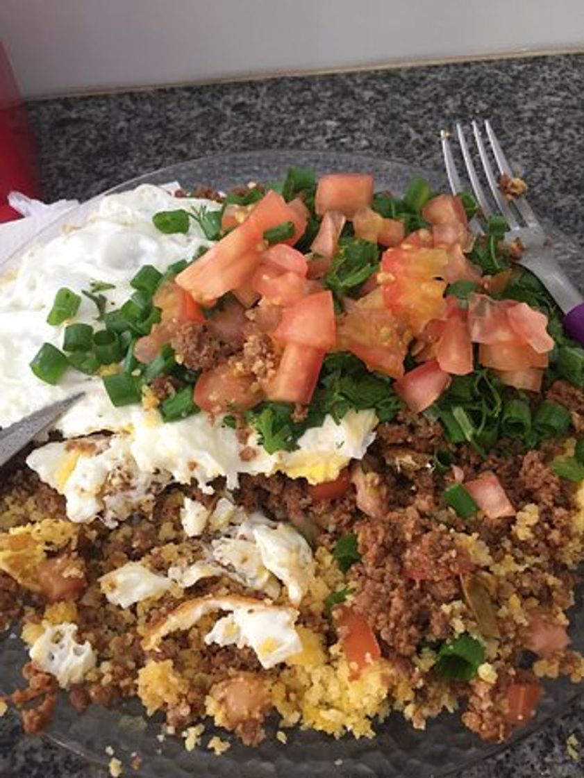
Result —
[{"label": "largest orange-yellow tomato chunk with ragged pulp, right of pile's centre", "polygon": [[378,281],[388,307],[418,335],[431,319],[445,312],[442,281],[448,254],[442,249],[388,249],[381,261]]}]

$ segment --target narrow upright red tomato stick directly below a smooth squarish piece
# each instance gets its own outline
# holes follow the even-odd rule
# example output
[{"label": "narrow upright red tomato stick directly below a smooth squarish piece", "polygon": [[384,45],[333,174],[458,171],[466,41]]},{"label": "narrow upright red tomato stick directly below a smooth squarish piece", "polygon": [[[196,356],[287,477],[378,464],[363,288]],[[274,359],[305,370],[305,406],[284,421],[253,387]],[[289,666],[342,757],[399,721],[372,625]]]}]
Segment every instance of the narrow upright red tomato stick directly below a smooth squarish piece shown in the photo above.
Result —
[{"label": "narrow upright red tomato stick directly below a smooth squarish piece", "polygon": [[286,343],[278,372],[268,387],[268,399],[281,402],[310,402],[324,352],[309,345]]}]

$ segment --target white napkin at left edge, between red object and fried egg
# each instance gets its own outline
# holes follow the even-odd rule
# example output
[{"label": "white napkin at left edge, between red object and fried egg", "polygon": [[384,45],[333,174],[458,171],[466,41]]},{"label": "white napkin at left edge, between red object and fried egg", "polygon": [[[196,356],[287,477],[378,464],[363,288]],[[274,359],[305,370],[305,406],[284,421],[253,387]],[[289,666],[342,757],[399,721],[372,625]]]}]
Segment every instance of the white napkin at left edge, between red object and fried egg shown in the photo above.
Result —
[{"label": "white napkin at left edge, between red object and fried egg", "polygon": [[20,192],[10,192],[8,202],[15,211],[22,213],[24,218],[0,223],[0,268],[12,254],[23,247],[27,240],[30,240],[47,224],[79,205],[77,200],[58,200],[57,202],[44,203],[26,197]]}]

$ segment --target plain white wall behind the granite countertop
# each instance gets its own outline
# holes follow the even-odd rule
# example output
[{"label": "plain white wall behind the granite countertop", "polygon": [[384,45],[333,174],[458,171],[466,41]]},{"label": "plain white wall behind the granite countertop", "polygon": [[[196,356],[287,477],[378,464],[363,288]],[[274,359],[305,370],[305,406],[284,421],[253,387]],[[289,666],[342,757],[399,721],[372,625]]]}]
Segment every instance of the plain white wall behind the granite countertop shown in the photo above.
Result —
[{"label": "plain white wall behind the granite countertop", "polygon": [[0,0],[26,96],[584,48],[584,0]]}]

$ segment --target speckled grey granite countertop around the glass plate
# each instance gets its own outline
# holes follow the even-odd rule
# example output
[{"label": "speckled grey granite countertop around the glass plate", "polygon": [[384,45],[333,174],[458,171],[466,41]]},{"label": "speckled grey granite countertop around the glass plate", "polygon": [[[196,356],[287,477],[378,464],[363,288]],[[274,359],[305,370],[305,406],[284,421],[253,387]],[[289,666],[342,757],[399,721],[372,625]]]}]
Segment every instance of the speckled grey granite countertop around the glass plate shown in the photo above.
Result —
[{"label": "speckled grey granite countertop around the glass plate", "polygon": [[[584,55],[183,86],[30,103],[44,197],[244,149],[335,149],[441,170],[437,131],[491,117],[530,202],[584,247]],[[584,776],[584,702],[465,778]],[[582,763],[566,739],[582,743]],[[93,768],[90,768],[90,770]],[[103,776],[97,772],[96,776]],[[86,763],[0,720],[0,778],[86,778]]]}]

